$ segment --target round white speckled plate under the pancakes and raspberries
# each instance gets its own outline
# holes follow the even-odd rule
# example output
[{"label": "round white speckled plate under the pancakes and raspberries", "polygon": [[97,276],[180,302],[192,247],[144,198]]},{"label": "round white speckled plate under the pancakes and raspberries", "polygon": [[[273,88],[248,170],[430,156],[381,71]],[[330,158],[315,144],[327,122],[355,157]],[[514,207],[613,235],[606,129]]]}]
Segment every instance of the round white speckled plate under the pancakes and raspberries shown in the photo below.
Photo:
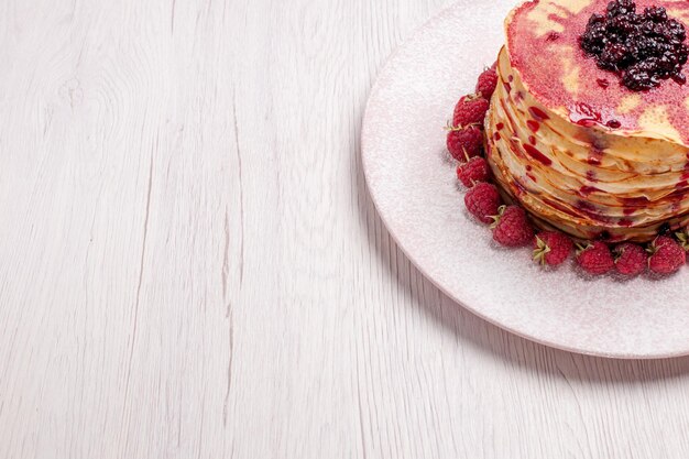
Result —
[{"label": "round white speckled plate under the pancakes and raspberries", "polygon": [[497,248],[464,211],[442,127],[496,57],[516,0],[462,0],[382,70],[362,130],[367,182],[387,229],[446,294],[486,320],[570,351],[630,359],[689,354],[689,267],[664,280],[544,272],[529,249]]}]

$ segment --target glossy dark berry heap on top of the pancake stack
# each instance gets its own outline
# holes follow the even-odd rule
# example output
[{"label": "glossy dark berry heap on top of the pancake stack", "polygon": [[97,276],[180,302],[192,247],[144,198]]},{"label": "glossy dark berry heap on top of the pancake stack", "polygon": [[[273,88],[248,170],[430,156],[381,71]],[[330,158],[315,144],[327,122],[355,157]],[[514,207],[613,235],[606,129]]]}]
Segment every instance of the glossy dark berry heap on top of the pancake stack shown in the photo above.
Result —
[{"label": "glossy dark berry heap on top of the pancake stack", "polygon": [[642,91],[671,78],[687,81],[682,66],[689,57],[687,31],[663,7],[636,13],[633,0],[613,0],[605,14],[592,14],[579,42],[598,66],[617,74],[627,88]]}]

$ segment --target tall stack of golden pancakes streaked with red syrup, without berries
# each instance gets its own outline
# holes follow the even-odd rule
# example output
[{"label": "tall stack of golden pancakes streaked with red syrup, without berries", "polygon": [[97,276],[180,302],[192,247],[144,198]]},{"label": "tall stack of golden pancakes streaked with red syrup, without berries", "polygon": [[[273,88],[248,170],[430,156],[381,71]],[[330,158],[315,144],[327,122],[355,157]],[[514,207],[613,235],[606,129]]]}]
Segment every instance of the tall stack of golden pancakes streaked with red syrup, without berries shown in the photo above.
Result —
[{"label": "tall stack of golden pancakes streaked with red syrup, without berries", "polygon": [[[512,11],[486,152],[503,193],[539,226],[645,242],[689,221],[689,85],[633,91],[599,68],[579,36],[608,3],[540,0]],[[636,3],[689,20],[686,1]]]}]

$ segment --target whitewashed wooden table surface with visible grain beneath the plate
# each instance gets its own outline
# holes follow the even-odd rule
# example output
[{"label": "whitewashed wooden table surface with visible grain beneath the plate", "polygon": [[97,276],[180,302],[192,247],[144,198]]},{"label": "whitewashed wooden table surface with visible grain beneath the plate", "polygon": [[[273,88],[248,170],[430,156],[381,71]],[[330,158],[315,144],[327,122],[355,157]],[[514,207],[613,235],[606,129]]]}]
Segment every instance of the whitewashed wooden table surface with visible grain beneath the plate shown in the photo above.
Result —
[{"label": "whitewashed wooden table surface with visible grain beneath the plate", "polygon": [[444,3],[0,2],[0,458],[688,457],[689,359],[508,335],[376,216],[369,89]]}]

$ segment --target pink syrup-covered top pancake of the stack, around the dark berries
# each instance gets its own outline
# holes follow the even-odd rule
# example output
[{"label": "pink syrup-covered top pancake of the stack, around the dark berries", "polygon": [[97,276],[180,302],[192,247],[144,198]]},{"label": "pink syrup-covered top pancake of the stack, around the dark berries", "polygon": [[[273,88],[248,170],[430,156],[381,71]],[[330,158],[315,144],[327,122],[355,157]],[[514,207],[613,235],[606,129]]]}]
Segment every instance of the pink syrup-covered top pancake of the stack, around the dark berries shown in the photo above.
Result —
[{"label": "pink syrup-covered top pancake of the stack, around the dark berries", "polygon": [[[667,79],[648,91],[632,91],[579,46],[589,18],[604,13],[609,2],[532,0],[514,9],[505,22],[512,67],[532,96],[565,119],[613,134],[689,145],[689,84]],[[637,0],[636,6],[637,12],[665,7],[668,15],[685,26],[689,23],[689,1]],[[689,64],[685,73],[689,76]],[[606,80],[608,87],[599,80]],[[606,128],[611,121],[620,128]]]}]

